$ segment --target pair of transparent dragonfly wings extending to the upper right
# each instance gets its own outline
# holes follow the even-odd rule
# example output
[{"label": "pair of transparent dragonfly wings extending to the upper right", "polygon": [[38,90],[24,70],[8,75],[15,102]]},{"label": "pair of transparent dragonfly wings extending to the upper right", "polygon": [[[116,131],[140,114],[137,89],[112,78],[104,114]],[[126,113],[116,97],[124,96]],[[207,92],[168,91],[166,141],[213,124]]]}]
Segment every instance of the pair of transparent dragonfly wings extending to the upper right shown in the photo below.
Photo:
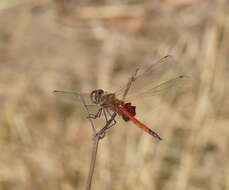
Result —
[{"label": "pair of transparent dragonfly wings extending to the upper right", "polygon": [[[187,79],[180,70],[181,68],[171,55],[159,59],[145,69],[140,65],[138,75],[130,86],[127,99],[138,96],[136,94],[156,95],[179,86],[179,83]],[[126,88],[127,86],[119,88],[115,92],[116,96],[120,98]]]}]

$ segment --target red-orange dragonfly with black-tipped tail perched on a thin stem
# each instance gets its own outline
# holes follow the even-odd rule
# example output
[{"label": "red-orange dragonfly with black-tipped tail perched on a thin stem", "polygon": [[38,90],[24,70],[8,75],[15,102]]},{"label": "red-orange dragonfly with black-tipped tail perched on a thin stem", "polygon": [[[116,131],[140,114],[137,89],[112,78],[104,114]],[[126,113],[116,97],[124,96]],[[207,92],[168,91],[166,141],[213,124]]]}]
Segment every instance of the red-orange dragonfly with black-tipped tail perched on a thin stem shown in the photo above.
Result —
[{"label": "red-orange dragonfly with black-tipped tail perched on a thin stem", "polygon": [[[90,93],[55,90],[54,94],[66,97],[81,96],[87,100],[86,102],[89,107],[95,106],[98,109],[95,114],[89,114],[90,118],[96,119],[101,115],[104,115],[106,121],[108,121],[108,116],[111,117],[112,113],[116,113],[118,116],[121,116],[124,121],[131,121],[149,135],[158,140],[162,140],[162,137],[157,132],[136,118],[136,106],[132,105],[132,102],[129,100],[134,100],[139,97],[143,98],[147,95],[154,96],[161,94],[169,88],[180,84],[183,79],[187,78],[187,76],[177,74],[176,68],[177,62],[175,59],[171,55],[167,55],[156,62],[153,62],[143,72],[141,72],[141,67],[138,67],[135,72],[136,76],[132,77],[126,85],[115,92],[110,93],[103,89],[92,90]],[[139,72],[141,73],[137,74]],[[173,73],[171,78],[167,80],[161,79],[163,78],[162,75],[170,76],[171,73]],[[162,80],[162,82],[158,83],[160,80]],[[109,126],[109,128],[116,124],[116,120],[113,119],[113,121],[114,122]]]}]

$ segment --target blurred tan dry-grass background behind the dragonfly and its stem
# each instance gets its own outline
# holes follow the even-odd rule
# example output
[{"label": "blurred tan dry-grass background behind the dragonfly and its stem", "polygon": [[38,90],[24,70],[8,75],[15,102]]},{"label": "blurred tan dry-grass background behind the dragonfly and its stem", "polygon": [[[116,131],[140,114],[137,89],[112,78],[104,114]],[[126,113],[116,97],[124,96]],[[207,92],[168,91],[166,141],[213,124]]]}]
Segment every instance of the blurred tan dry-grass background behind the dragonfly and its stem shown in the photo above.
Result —
[{"label": "blurred tan dry-grass background behind the dragonfly and its stem", "polygon": [[167,54],[190,80],[132,102],[163,141],[118,120],[92,189],[229,189],[228,32],[227,0],[1,0],[0,189],[84,189],[91,127],[52,91],[116,89]]}]

